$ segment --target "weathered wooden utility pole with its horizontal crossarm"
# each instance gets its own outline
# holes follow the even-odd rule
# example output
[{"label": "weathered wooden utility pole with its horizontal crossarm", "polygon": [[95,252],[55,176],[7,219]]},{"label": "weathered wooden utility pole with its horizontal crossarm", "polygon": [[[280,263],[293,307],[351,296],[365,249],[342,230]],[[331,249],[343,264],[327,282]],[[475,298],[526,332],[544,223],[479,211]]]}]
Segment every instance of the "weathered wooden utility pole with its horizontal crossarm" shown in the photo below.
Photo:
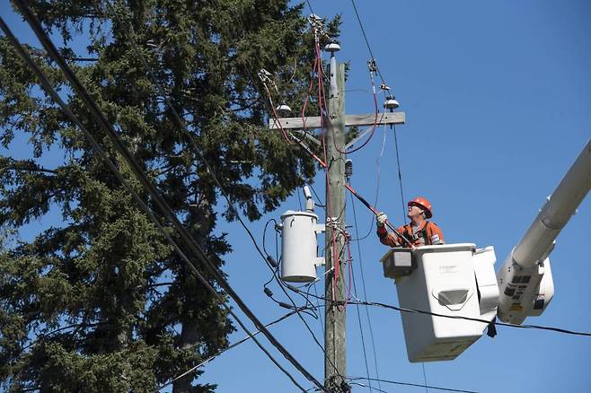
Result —
[{"label": "weathered wooden utility pole with its horizontal crossarm", "polygon": [[[324,127],[326,143],[326,280],[325,280],[325,329],[324,329],[324,386],[330,392],[347,391],[346,380],[346,343],[345,343],[345,154],[346,149],[364,137],[345,144],[345,127],[348,126],[380,126],[385,124],[404,124],[403,112],[380,113],[378,116],[345,115],[345,65],[337,64],[335,52],[340,47],[331,43],[325,50],[331,52],[331,86],[328,93],[328,118],[272,118],[269,120],[271,129],[296,130],[303,128]],[[306,142],[320,145],[312,135],[302,134]],[[293,139],[308,151],[301,139],[302,135]],[[334,267],[334,268],[333,268]]]}]

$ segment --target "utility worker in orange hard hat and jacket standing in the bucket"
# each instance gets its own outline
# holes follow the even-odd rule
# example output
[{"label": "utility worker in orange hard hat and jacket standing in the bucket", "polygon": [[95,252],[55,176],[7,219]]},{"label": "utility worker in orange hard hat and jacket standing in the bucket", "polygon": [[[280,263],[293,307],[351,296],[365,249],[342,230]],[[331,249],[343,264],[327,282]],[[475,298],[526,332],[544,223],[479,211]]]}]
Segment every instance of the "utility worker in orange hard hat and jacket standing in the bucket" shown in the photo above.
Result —
[{"label": "utility worker in orange hard hat and jacket standing in the bucket", "polygon": [[[409,203],[409,213],[407,217],[410,218],[410,223],[401,226],[398,231],[405,239],[415,246],[430,246],[435,244],[444,244],[443,232],[439,229],[436,223],[428,222],[431,218],[431,204],[422,197],[417,196]],[[410,247],[409,242],[401,239],[400,236],[393,232],[388,232],[385,227],[385,222],[388,216],[384,213],[377,214],[377,236],[380,238],[382,244],[390,247]]]}]

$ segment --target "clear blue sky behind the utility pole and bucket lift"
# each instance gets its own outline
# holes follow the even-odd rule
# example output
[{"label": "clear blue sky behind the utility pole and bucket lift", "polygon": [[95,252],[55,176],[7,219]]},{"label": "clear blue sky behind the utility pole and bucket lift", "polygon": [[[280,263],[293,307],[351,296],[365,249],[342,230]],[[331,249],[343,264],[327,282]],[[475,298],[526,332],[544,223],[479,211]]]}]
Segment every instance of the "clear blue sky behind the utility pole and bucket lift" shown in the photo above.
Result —
[{"label": "clear blue sky behind the utility pole and bucket lift", "polygon": [[[351,3],[311,0],[311,4],[321,16],[342,13],[338,57],[350,61],[347,112],[371,113],[369,54]],[[397,127],[406,197],[423,195],[431,200],[433,221],[443,228],[447,242],[494,246],[498,268],[591,137],[591,3],[357,1],[357,9],[376,61],[406,113],[407,124]],[[5,4],[1,12],[3,17],[10,15]],[[14,17],[9,22],[22,26]],[[23,40],[31,38],[24,27],[15,32]],[[393,131],[388,128],[385,133],[377,206],[396,222],[401,219],[401,200]],[[375,160],[383,135],[380,128],[370,144],[349,157],[355,165],[353,186],[372,201],[377,190]],[[24,146],[22,154],[27,154]],[[322,196],[322,175],[315,188]],[[267,219],[278,219],[283,211],[297,208],[295,195],[276,213],[252,223],[251,230],[260,240]],[[356,209],[358,231],[366,233],[373,218],[362,205],[357,203]],[[351,209],[348,224],[353,224]],[[237,223],[223,223],[218,230],[229,233],[234,247],[234,254],[226,258],[225,272],[236,291],[263,321],[283,315],[286,310],[262,293],[269,270],[243,229]],[[591,331],[587,301],[591,254],[583,247],[590,231],[591,198],[587,196],[551,254],[554,299],[541,317],[526,323]],[[271,249],[272,243],[269,234]],[[393,282],[384,278],[378,262],[384,246],[373,234],[362,240],[361,260],[357,244],[353,246],[357,289],[358,265],[363,264],[368,300],[397,304]],[[319,284],[318,291],[321,288]],[[380,377],[423,383],[421,365],[407,360],[400,315],[392,310],[369,311]],[[321,323],[309,322],[322,340]],[[375,377],[365,310],[362,322]],[[271,331],[322,379],[322,352],[300,320],[288,319]],[[237,332],[231,342],[243,336]],[[347,344],[348,375],[365,376],[357,311],[352,306]],[[482,392],[588,391],[590,361],[588,337],[498,327],[498,336],[482,337],[458,359],[427,363],[426,375],[429,385]],[[217,383],[220,392],[295,391],[252,343],[223,354],[205,371],[203,380]],[[312,388],[297,371],[293,373]],[[424,390],[384,383],[381,388]]]}]

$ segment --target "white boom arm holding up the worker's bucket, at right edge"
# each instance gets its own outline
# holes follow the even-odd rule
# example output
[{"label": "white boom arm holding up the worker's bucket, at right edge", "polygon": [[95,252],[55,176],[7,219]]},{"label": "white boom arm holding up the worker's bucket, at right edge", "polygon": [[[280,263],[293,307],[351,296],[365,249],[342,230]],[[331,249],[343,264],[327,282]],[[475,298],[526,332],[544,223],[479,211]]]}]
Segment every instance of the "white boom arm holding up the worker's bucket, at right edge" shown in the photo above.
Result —
[{"label": "white boom arm holding up the worker's bucket, at right edge", "polygon": [[542,314],[554,294],[550,255],[560,231],[591,188],[591,140],[497,273],[498,318],[521,324]]}]

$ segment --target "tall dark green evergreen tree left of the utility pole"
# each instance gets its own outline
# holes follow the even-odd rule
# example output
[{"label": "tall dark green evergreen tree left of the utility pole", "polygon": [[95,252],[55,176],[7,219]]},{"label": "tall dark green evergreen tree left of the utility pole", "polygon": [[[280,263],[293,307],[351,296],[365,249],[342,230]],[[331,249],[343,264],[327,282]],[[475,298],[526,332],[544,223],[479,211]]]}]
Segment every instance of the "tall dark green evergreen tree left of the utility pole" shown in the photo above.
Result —
[{"label": "tall dark green evergreen tree left of the utility pole", "polygon": [[[37,0],[46,31],[182,223],[217,266],[236,212],[158,94],[133,38],[233,204],[249,220],[313,179],[313,160],[269,131],[257,72],[301,107],[313,65],[303,6],[286,0]],[[111,5],[111,4],[114,4]],[[339,21],[329,23],[332,35]],[[88,41],[81,56],[71,47]],[[71,109],[146,196],[40,48],[29,48]],[[309,114],[317,114],[314,101]],[[17,138],[18,136],[18,138]],[[0,388],[145,391],[227,343],[224,308],[199,284],[84,135],[0,38]],[[23,138],[32,157],[10,152]],[[22,142],[21,142],[22,143]],[[61,159],[57,160],[58,155]],[[48,158],[53,157],[53,158]],[[32,240],[31,221],[61,221]],[[213,279],[209,278],[212,284]],[[213,391],[190,377],[174,391]]]}]

